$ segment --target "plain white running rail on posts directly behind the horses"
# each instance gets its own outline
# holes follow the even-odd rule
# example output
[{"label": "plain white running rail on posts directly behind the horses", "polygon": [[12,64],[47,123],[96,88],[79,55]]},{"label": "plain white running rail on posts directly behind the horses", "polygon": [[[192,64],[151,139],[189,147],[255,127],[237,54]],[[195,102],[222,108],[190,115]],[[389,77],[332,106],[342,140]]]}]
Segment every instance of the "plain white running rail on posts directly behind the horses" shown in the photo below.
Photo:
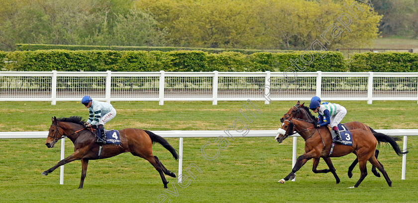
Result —
[{"label": "plain white running rail on posts directly behind the horses", "polygon": [[[384,133],[390,136],[403,136],[404,143],[403,143],[403,151],[407,150],[407,140],[408,136],[417,136],[418,129],[391,129],[391,130],[375,130],[378,133]],[[178,175],[182,174],[183,170],[183,138],[184,137],[218,137],[220,135],[224,135],[224,131],[153,131],[153,133],[160,135],[162,137],[179,137],[179,173]],[[234,137],[242,137],[242,133],[239,132],[229,132]],[[0,138],[4,139],[12,139],[12,138],[46,138],[48,135],[48,131],[42,132],[0,132]],[[277,131],[275,130],[253,130],[249,131],[245,137],[275,137],[277,135]],[[292,168],[296,163],[296,150],[297,150],[297,137],[300,136],[299,134],[292,135],[293,136],[293,155],[292,155]],[[61,139],[61,159],[65,158],[64,150],[65,150],[65,140]],[[212,140],[211,140],[212,141]],[[276,142],[272,138],[272,142]],[[204,149],[203,149],[204,150]],[[394,152],[395,153],[395,152]],[[404,154],[402,157],[402,175],[401,179],[405,180],[406,178],[406,163],[407,163],[407,154]],[[181,180],[179,180],[181,181]],[[295,181],[293,179],[292,181]],[[60,167],[60,184],[64,184],[64,166]]]}]

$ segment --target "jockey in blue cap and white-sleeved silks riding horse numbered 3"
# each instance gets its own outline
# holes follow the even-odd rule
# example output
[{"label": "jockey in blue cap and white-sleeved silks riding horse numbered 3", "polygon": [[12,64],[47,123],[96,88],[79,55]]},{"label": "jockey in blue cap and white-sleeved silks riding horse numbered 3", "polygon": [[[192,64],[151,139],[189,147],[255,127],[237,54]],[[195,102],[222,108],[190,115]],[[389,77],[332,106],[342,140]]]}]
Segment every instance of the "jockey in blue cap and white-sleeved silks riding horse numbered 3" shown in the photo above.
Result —
[{"label": "jockey in blue cap and white-sleeved silks riding horse numbered 3", "polygon": [[[329,126],[334,130],[336,136],[333,142],[342,143],[341,135],[338,132],[337,125],[342,121],[344,116],[347,114],[347,110],[339,104],[319,104],[318,101],[313,101],[309,104],[309,108],[314,112],[318,113],[319,122],[315,128],[322,126]],[[326,122],[323,122],[323,118],[326,118]]]}]

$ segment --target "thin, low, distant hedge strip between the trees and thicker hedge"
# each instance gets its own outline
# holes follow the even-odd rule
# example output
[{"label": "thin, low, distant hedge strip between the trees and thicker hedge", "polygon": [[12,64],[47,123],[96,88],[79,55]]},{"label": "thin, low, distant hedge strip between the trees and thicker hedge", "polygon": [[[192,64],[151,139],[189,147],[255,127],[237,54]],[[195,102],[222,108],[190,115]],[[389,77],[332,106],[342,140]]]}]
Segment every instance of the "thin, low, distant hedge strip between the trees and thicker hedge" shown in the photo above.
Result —
[{"label": "thin, low, distant hedge strip between the trees and thicker hedge", "polygon": [[293,50],[251,50],[251,49],[211,49],[211,48],[194,48],[194,47],[134,47],[134,46],[89,46],[89,45],[49,45],[49,44],[16,44],[17,51],[35,51],[35,50],[116,50],[116,51],[204,51],[208,53],[221,52],[239,52],[242,54],[253,54],[257,52],[273,52],[273,53],[288,53]]}]

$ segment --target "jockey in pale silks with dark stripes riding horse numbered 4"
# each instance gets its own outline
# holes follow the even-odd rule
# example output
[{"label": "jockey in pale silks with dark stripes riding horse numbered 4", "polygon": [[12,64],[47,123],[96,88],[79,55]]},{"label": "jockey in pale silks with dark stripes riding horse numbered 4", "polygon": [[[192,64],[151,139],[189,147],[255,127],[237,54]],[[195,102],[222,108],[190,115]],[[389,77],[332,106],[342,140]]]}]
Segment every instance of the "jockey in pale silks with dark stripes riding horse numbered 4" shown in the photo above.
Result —
[{"label": "jockey in pale silks with dark stripes riding horse numbered 4", "polygon": [[101,137],[97,139],[97,142],[105,144],[106,136],[103,125],[116,116],[116,110],[109,103],[93,101],[90,96],[84,96],[80,103],[89,109],[89,120],[86,122],[86,127],[98,125],[97,129]]}]

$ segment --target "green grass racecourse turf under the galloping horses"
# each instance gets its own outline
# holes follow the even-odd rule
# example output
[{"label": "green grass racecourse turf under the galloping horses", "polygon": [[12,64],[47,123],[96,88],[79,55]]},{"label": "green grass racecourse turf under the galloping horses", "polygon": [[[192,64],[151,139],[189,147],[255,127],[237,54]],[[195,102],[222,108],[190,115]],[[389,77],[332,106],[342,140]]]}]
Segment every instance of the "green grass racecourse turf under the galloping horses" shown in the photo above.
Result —
[{"label": "green grass racecourse turf under the galloping horses", "polygon": [[[373,129],[418,129],[417,101],[331,101],[348,110],[343,122],[360,121]],[[225,130],[241,114],[245,101],[218,102],[112,102],[117,116],[106,129],[142,128],[146,130]],[[254,102],[261,110],[249,123],[251,130],[276,130],[279,118],[296,101],[273,101],[270,105]],[[309,102],[307,102],[309,103]],[[51,117],[83,116],[88,111],[77,102],[2,102],[0,131],[47,131]],[[291,171],[292,139],[283,143],[273,137],[236,137],[212,161],[201,154],[201,147],[211,138],[184,139],[184,169],[196,164],[202,173],[192,169],[196,179],[181,188],[170,181],[164,190],[157,171],[146,160],[124,153],[104,160],[89,162],[84,189],[77,189],[81,162],[66,164],[64,185],[59,185],[59,169],[48,176],[42,171],[55,165],[60,158],[60,141],[48,149],[45,139],[0,139],[0,202],[1,203],[416,203],[418,202],[418,137],[408,137],[406,180],[401,180],[402,157],[392,148],[379,147],[379,160],[384,165],[393,187],[383,177],[375,177],[368,163],[368,176],[358,188],[353,186],[360,175],[358,166],[353,178],[347,169],[355,159],[353,154],[333,158],[341,182],[335,184],[332,174],[314,174],[312,160],[296,173],[296,182],[277,183]],[[178,149],[179,138],[167,138]],[[402,141],[398,144],[402,147]],[[298,138],[298,155],[304,141]],[[66,140],[66,156],[73,145]],[[153,145],[167,169],[178,172],[178,161],[159,144]],[[208,153],[215,153],[209,147]],[[323,160],[318,169],[326,168]],[[185,173],[185,172],[184,172]],[[175,192],[177,190],[178,194]],[[158,199],[159,198],[159,199]],[[167,198],[164,200],[164,198]]]}]

